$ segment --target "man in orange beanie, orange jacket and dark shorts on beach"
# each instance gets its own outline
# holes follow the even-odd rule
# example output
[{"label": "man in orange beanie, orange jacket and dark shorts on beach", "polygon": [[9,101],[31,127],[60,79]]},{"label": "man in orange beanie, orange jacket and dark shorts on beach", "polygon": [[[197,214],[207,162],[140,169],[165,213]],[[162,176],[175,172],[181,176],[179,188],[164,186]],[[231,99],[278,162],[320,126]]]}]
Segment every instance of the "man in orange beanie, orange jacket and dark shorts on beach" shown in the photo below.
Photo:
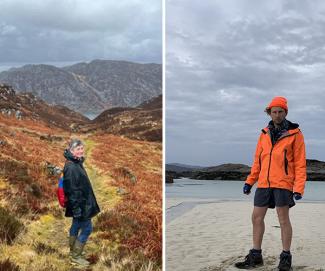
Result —
[{"label": "man in orange beanie, orange jacket and dark shorts on beach", "polygon": [[278,269],[291,270],[290,246],[292,227],[289,208],[294,199],[302,198],[306,182],[305,143],[299,125],[286,120],[287,100],[275,97],[265,112],[271,117],[269,125],[259,137],[251,173],[245,181],[244,194],[250,194],[257,183],[254,197],[253,248],[243,262],[235,264],[240,269],[252,269],[263,265],[262,240],[265,230],[264,218],[268,208],[276,207],[281,227],[283,251]]}]

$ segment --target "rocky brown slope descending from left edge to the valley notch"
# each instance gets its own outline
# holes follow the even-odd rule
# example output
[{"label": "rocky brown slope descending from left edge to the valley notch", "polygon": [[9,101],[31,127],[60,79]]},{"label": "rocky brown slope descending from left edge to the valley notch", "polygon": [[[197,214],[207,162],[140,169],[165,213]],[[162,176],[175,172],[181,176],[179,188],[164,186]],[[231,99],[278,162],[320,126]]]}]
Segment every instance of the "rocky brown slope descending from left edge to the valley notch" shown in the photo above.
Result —
[{"label": "rocky brown slope descending from left edge to the valley notch", "polygon": [[48,105],[31,93],[16,94],[15,90],[8,85],[0,85],[0,114],[18,120],[43,122],[48,127],[54,126],[69,131],[76,125],[90,121],[67,107]]}]

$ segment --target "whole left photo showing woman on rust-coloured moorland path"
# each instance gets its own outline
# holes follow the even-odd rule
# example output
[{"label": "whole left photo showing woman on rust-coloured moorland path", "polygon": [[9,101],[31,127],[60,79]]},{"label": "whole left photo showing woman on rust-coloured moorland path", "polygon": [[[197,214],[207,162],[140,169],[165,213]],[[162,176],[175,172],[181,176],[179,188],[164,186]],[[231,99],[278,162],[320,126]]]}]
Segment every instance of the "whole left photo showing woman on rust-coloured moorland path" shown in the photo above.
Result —
[{"label": "whole left photo showing woman on rust-coloured moorland path", "polygon": [[162,0],[0,0],[0,270],[162,270]]}]

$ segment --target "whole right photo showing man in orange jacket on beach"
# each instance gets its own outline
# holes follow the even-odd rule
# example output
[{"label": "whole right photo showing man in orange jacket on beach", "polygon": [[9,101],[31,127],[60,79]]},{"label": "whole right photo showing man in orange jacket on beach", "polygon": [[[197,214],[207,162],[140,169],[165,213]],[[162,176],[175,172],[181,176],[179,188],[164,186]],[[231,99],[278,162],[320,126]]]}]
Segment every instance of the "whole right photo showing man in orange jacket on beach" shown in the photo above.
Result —
[{"label": "whole right photo showing man in orange jacket on beach", "polygon": [[165,5],[165,270],[325,270],[325,2]]}]

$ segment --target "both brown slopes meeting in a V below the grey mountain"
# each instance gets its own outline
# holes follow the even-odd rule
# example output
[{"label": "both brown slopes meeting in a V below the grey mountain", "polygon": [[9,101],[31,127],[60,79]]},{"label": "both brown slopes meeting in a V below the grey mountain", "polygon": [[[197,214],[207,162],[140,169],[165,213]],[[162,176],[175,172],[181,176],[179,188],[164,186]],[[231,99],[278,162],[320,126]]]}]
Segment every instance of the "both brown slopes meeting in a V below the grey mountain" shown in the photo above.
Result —
[{"label": "both brown slopes meeting in a V below the grey mountain", "polygon": [[17,94],[7,85],[0,85],[0,114],[5,117],[42,122],[68,132],[100,132],[137,140],[161,142],[162,96],[138,107],[116,107],[104,111],[94,120],[67,107],[48,105],[31,93]]}]

